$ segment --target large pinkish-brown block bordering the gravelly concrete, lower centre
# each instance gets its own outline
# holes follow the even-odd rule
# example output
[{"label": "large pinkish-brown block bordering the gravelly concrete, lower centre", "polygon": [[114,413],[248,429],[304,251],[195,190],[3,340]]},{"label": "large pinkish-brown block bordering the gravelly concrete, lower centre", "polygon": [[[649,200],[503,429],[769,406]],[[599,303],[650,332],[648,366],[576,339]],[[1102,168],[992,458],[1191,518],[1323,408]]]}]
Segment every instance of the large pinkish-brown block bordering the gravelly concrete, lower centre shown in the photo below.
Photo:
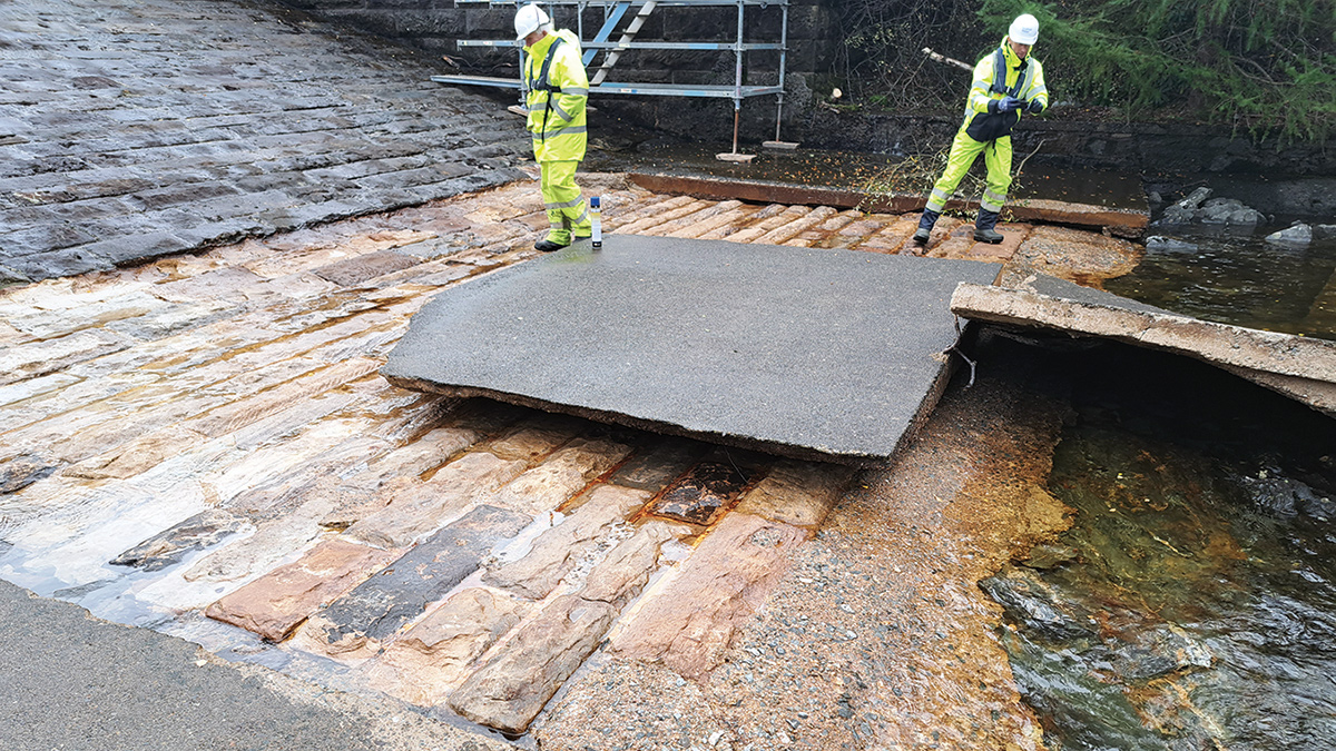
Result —
[{"label": "large pinkish-brown block bordering the gravelly concrete, lower centre", "polygon": [[728,514],[683,564],[677,579],[640,605],[613,649],[661,661],[684,678],[709,672],[723,660],[733,632],[766,601],[806,536],[787,524]]}]

